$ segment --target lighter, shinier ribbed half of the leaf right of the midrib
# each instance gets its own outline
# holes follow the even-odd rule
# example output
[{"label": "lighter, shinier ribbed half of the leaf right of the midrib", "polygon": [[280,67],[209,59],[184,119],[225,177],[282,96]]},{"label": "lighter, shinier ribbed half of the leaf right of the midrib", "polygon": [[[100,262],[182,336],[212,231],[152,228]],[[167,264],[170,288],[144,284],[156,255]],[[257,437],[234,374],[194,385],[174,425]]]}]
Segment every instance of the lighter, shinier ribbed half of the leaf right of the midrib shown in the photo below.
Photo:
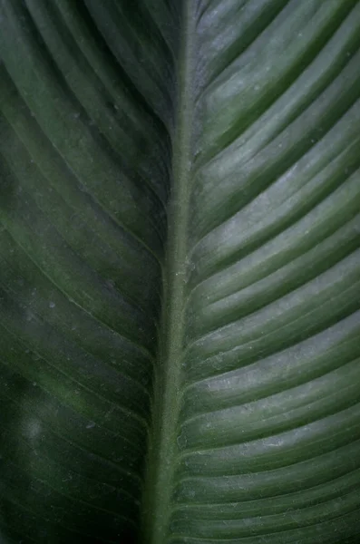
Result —
[{"label": "lighter, shinier ribbed half of the leaf right of the midrib", "polygon": [[360,539],[360,4],[197,6],[171,544]]}]

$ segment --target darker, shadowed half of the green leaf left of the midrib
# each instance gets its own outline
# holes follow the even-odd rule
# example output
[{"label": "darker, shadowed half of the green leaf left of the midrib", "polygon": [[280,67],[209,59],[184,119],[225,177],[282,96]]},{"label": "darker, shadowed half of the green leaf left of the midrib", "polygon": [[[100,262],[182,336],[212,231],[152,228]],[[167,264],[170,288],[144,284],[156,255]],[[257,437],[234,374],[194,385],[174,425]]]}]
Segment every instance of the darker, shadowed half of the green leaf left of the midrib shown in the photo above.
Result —
[{"label": "darker, shadowed half of the green leaf left of the midrib", "polygon": [[177,18],[0,2],[2,544],[138,529]]}]

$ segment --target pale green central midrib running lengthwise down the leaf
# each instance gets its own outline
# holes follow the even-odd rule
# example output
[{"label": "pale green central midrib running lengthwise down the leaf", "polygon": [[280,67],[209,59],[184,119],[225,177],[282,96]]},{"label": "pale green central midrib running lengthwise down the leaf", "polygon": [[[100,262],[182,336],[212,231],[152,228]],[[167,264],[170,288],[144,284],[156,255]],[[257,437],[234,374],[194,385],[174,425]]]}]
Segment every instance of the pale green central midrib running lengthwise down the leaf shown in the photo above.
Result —
[{"label": "pale green central midrib running lengthwise down the leaf", "polygon": [[142,505],[142,542],[163,544],[170,520],[177,423],[180,409],[183,308],[187,274],[187,232],[192,134],[192,52],[195,17],[184,1],[178,65],[178,103],[173,138],[169,235],[164,272],[159,360],[155,375],[153,430]]}]

